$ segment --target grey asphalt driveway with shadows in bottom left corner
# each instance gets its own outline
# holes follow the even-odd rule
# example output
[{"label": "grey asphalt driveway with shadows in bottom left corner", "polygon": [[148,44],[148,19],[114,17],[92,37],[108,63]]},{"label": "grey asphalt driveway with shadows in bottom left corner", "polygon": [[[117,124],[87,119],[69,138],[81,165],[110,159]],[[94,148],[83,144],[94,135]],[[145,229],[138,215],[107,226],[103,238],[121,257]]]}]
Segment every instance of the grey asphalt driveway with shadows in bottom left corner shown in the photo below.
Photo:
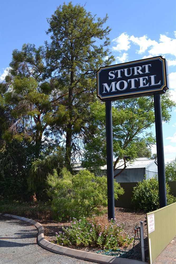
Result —
[{"label": "grey asphalt driveway with shadows in bottom left corner", "polygon": [[37,244],[37,229],[25,221],[0,215],[0,264],[93,264],[49,252]]}]

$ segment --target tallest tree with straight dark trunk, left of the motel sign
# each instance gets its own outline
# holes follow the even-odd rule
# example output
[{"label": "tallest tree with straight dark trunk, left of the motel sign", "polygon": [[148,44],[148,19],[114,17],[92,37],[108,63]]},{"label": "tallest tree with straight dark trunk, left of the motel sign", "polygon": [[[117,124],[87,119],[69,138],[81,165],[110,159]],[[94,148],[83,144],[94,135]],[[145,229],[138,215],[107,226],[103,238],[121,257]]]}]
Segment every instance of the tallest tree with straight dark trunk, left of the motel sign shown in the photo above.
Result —
[{"label": "tallest tree with straight dark trunk, left of the motel sign", "polygon": [[87,120],[90,103],[96,101],[96,71],[113,61],[107,48],[110,28],[104,27],[106,21],[107,15],[96,18],[71,2],[59,6],[48,19],[51,43],[46,42],[47,74],[63,84],[58,90],[65,94],[62,110],[67,121],[62,129],[68,169],[72,157],[82,153],[80,144],[89,134]]}]

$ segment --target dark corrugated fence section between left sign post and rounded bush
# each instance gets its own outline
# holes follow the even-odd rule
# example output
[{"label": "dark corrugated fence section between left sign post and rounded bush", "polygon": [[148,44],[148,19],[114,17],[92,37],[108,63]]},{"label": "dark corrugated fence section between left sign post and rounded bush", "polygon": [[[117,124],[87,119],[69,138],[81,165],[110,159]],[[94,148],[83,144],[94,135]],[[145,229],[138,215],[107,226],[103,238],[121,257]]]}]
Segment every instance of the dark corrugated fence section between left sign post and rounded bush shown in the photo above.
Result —
[{"label": "dark corrugated fence section between left sign post and rounded bush", "polygon": [[137,185],[137,182],[120,182],[120,186],[125,190],[125,193],[115,200],[116,207],[122,208],[134,208],[131,204],[131,198],[133,195],[133,188]]}]

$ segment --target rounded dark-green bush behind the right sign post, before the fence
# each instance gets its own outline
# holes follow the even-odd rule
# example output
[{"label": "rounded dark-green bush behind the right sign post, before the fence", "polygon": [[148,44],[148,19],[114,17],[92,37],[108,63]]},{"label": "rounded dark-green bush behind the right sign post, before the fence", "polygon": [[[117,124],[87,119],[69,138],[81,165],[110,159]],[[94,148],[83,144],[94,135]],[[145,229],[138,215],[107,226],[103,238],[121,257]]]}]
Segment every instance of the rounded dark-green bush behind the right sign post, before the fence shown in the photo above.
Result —
[{"label": "rounded dark-green bush behind the right sign post, before the fence", "polygon": [[[167,205],[176,202],[176,198],[170,194],[170,187],[166,183]],[[158,180],[151,178],[138,182],[134,187],[132,203],[136,210],[151,212],[159,209]]]}]

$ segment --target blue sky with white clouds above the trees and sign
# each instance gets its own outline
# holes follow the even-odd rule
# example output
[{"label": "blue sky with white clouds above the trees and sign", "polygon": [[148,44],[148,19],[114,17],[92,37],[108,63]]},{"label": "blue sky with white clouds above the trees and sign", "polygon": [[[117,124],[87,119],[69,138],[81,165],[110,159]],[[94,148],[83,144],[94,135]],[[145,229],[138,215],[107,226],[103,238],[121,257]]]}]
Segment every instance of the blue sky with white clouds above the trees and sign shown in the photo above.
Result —
[{"label": "blue sky with white clouds above the trees and sign", "polygon": [[[68,3],[69,1],[65,1]],[[36,47],[50,41],[45,31],[50,18],[64,1],[0,0],[0,80],[3,80],[14,49],[24,43]],[[130,62],[162,55],[169,65],[170,98],[176,102],[176,1],[87,0],[72,1],[97,17],[108,15],[110,50],[116,62]],[[163,123],[165,163],[176,157],[176,108],[169,123]],[[155,126],[152,128],[155,135]],[[156,146],[152,147],[156,153]]]}]

